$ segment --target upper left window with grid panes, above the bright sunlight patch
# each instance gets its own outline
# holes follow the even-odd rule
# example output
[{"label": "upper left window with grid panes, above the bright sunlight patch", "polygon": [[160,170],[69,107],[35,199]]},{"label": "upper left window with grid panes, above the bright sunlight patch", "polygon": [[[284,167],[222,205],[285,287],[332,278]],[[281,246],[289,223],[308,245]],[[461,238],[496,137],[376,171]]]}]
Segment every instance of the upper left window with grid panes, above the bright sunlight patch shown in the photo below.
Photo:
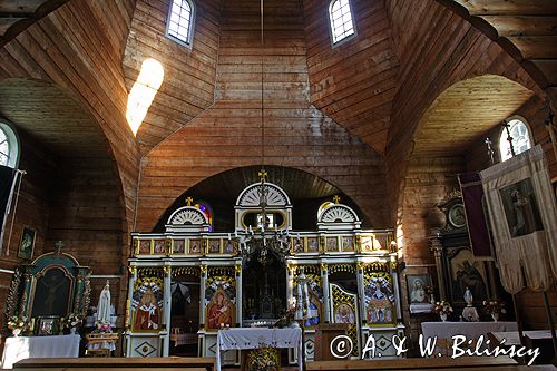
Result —
[{"label": "upper left window with grid panes, above the bright sunlight patch", "polygon": [[173,0],[166,20],[166,35],[192,49],[195,6],[190,0]]}]

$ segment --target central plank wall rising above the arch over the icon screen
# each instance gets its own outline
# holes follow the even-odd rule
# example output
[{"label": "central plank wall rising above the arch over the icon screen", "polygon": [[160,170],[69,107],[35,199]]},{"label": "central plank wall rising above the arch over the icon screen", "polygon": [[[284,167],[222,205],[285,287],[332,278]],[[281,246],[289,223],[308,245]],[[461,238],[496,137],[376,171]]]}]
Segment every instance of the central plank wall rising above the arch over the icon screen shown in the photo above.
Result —
[{"label": "central plank wall rising above the arch over the icon screen", "polygon": [[224,3],[217,99],[144,159],[137,230],[153,228],[176,197],[206,177],[261,164],[262,58],[265,164],[321,176],[356,202],[373,226],[389,226],[382,158],[310,105],[300,2],[265,1],[263,56],[258,4]]}]

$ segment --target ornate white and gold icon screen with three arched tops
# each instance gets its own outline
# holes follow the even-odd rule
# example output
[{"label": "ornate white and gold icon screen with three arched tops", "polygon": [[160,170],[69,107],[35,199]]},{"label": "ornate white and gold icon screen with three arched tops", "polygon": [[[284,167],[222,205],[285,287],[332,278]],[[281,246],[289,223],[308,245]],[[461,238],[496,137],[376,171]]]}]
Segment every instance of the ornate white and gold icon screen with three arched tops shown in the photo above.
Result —
[{"label": "ornate white and gold icon screen with three arched tops", "polygon": [[[362,230],[334,197],[315,209],[314,231],[293,231],[289,195],[264,174],[238,195],[234,231],[213,232],[211,205],[186,203],[164,233],[131,234],[127,357],[166,357],[177,334],[217,357],[218,330],[268,328],[286,311],[303,328],[306,361],[320,323],[346,324],[353,358],[372,334],[382,358],[395,355],[391,339],[404,329],[393,230]],[[237,364],[238,352],[224,362]]]}]

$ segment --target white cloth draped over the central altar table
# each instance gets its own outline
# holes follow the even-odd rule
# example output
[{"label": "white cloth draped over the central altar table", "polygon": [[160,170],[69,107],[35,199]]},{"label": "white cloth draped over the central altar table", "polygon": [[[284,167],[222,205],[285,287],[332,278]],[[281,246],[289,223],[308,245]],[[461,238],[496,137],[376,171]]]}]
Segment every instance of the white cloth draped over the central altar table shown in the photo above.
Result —
[{"label": "white cloth draped over the central altar table", "polygon": [[216,340],[216,371],[221,371],[224,351],[232,349],[295,348],[302,371],[302,329],[238,328],[221,330]]}]

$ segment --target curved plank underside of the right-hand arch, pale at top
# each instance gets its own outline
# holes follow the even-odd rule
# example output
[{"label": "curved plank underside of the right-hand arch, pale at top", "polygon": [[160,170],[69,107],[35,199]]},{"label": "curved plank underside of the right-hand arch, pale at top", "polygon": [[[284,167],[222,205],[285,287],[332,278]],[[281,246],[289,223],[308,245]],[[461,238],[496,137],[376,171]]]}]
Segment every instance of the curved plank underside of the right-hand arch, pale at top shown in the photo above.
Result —
[{"label": "curved plank underside of the right-hand arch, pale at top", "polygon": [[[416,126],[400,175],[395,204],[399,246],[412,248],[414,257],[420,256],[420,252],[429,252],[424,234],[432,226],[428,225],[428,213],[458,187],[455,175],[467,170],[467,152],[482,143],[483,135],[532,96],[531,90],[509,78],[481,75],[457,81],[436,97]],[[432,196],[422,197],[422,194]],[[423,238],[419,238],[420,235]]]}]

